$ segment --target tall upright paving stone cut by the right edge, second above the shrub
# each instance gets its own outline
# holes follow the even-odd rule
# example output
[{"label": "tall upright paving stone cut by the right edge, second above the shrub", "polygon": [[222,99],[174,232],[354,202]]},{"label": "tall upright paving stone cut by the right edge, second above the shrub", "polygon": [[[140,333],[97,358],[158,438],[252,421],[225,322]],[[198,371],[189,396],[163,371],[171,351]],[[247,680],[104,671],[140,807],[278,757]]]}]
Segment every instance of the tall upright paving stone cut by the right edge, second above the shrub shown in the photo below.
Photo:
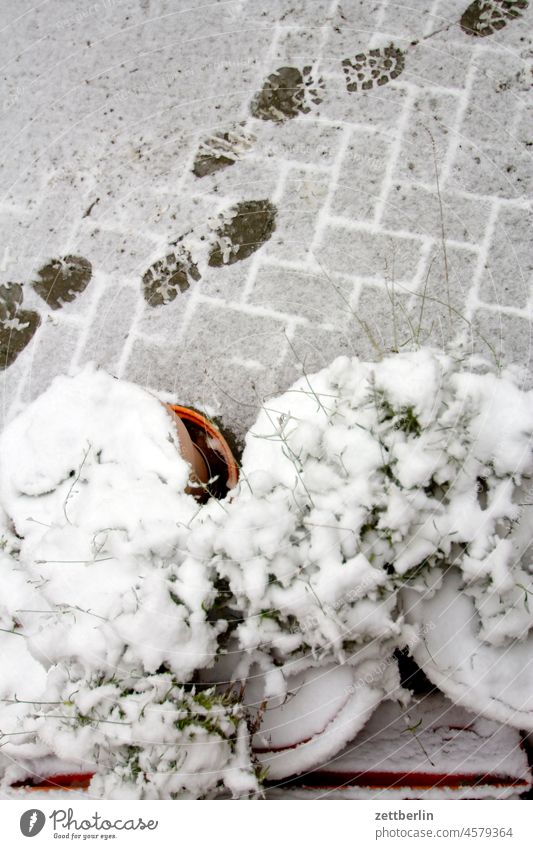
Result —
[{"label": "tall upright paving stone cut by the right edge, second above the shrub", "polygon": [[533,279],[532,226],[531,210],[500,207],[480,285],[481,300],[526,306]]}]

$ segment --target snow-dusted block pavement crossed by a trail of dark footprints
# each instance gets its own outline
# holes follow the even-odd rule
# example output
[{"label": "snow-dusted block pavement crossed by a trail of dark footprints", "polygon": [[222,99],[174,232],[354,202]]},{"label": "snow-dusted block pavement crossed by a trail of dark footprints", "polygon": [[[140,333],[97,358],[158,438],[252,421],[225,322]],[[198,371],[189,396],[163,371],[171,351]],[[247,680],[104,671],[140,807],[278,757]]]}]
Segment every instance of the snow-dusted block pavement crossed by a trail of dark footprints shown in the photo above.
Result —
[{"label": "snow-dusted block pavement crossed by a trail of dark footprints", "polygon": [[3,0],[4,420],[91,360],[237,437],[339,354],[529,383],[531,5]]}]

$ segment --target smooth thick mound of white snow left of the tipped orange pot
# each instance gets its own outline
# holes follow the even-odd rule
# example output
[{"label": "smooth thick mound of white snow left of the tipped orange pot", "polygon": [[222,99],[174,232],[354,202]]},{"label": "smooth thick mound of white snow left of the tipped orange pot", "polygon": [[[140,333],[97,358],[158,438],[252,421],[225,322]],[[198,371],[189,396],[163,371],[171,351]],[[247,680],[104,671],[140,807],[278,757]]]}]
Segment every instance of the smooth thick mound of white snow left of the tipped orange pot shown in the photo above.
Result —
[{"label": "smooth thick mound of white snow left of the tipped orange pot", "polygon": [[207,567],[180,569],[198,503],[156,398],[91,367],[57,378],[5,429],[0,462],[17,568],[41,595],[25,633],[45,666],[164,666],[188,681],[212,662],[225,625]]}]

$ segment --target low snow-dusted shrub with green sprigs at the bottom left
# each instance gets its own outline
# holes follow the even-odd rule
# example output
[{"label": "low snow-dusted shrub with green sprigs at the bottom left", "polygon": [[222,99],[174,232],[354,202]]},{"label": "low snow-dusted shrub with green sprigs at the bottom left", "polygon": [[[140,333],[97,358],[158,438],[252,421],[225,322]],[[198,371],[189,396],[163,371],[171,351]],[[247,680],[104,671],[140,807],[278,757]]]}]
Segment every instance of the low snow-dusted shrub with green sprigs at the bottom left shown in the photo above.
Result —
[{"label": "low snow-dusted shrub with green sprigs at the bottom left", "polygon": [[50,671],[29,733],[95,770],[89,792],[108,799],[256,795],[249,729],[235,694],[184,687],[169,673],[77,678]]}]

